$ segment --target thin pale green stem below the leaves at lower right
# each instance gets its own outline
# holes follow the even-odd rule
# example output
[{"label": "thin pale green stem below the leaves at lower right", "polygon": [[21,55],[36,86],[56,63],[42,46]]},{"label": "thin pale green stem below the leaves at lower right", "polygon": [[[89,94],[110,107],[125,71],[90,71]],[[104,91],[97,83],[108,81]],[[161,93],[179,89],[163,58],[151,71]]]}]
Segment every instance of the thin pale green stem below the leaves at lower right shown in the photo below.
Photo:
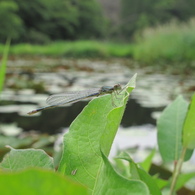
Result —
[{"label": "thin pale green stem below the leaves at lower right", "polygon": [[175,165],[174,172],[173,172],[173,179],[172,179],[172,182],[171,182],[171,189],[170,189],[169,195],[173,195],[173,193],[174,193],[175,185],[176,185],[177,179],[179,177],[179,174],[181,172],[181,167],[182,167],[182,164],[183,164],[183,161],[184,161],[184,157],[185,157],[185,154],[186,154],[186,149],[187,149],[186,147],[182,149],[181,156],[180,156],[177,164]]}]

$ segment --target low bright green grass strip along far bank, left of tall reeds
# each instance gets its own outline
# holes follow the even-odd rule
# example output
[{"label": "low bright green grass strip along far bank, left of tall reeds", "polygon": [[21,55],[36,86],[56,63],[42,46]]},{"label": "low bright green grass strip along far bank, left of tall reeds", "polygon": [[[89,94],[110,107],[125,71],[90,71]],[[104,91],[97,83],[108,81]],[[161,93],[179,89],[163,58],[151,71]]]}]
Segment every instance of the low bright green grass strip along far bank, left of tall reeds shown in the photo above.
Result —
[{"label": "low bright green grass strip along far bank, left of tall reeds", "polygon": [[[0,45],[0,53],[3,45]],[[17,44],[10,48],[10,55],[51,57],[130,57],[132,45],[98,41],[63,41],[48,45]]]}]

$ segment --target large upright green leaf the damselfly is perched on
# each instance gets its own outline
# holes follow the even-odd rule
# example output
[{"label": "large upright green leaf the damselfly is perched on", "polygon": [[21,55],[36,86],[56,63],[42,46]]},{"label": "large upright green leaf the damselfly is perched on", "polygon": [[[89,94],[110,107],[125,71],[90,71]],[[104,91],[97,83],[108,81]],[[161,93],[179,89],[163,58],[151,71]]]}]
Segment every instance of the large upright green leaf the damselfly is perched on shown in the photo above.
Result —
[{"label": "large upright green leaf the damselfly is perched on", "polygon": [[136,75],[118,95],[105,95],[92,100],[64,136],[59,171],[91,191],[99,182],[103,165],[100,145],[102,151],[108,155],[129,93],[135,88],[135,79]]}]

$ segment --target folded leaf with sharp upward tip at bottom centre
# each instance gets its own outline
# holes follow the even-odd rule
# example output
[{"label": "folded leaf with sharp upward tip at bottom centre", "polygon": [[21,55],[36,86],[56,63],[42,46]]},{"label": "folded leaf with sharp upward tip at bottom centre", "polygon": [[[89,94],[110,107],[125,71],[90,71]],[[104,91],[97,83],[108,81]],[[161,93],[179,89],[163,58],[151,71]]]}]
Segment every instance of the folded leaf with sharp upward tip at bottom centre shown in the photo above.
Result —
[{"label": "folded leaf with sharp upward tip at bottom centre", "polygon": [[99,173],[99,181],[94,188],[94,195],[149,195],[149,190],[144,182],[120,176],[114,171],[106,156],[102,154],[102,157],[104,163]]}]

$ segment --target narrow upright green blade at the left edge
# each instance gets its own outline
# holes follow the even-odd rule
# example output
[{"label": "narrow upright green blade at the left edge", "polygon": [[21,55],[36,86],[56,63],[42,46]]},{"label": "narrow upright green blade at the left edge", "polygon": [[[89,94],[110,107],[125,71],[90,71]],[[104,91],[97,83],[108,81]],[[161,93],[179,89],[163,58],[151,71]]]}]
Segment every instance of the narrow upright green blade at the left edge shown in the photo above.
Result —
[{"label": "narrow upright green blade at the left edge", "polygon": [[3,90],[3,84],[5,80],[5,74],[6,74],[6,64],[7,64],[7,57],[10,47],[10,39],[7,39],[5,49],[3,52],[3,59],[0,66],[0,93]]}]

